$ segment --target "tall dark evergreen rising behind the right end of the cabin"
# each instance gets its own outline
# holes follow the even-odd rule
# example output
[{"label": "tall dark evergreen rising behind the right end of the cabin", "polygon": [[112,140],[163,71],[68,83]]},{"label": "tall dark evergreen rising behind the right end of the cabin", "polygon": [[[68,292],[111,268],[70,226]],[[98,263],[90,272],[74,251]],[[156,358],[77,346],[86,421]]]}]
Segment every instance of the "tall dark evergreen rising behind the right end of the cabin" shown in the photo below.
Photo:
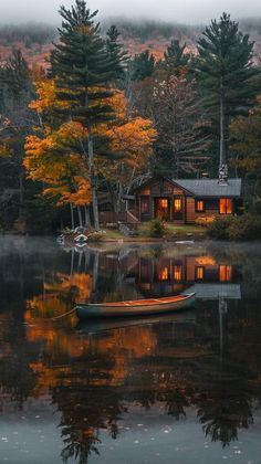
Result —
[{"label": "tall dark evergreen rising behind the right end of the cabin", "polygon": [[202,105],[212,124],[219,125],[219,167],[226,164],[226,144],[231,116],[242,114],[253,103],[253,42],[239,31],[239,24],[223,13],[198,40],[197,74]]}]

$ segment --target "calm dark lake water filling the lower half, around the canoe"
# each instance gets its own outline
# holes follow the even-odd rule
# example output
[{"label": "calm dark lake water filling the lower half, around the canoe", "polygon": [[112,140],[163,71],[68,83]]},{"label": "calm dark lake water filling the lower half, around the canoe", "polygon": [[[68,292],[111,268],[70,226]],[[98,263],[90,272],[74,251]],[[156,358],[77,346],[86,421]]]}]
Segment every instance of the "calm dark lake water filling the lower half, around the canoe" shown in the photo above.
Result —
[{"label": "calm dark lake water filling the lower half, around the canoe", "polygon": [[[0,239],[0,462],[261,464],[261,245]],[[80,325],[75,300],[195,289]]]}]

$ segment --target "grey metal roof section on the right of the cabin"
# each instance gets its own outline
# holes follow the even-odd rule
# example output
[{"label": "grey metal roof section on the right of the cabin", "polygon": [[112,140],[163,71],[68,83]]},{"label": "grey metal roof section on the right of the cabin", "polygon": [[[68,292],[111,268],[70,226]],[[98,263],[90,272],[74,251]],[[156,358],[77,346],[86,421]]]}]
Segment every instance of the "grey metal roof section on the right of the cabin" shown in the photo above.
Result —
[{"label": "grey metal roof section on the right of the cabin", "polygon": [[219,183],[218,179],[173,179],[196,197],[240,197],[241,179],[228,179]]}]

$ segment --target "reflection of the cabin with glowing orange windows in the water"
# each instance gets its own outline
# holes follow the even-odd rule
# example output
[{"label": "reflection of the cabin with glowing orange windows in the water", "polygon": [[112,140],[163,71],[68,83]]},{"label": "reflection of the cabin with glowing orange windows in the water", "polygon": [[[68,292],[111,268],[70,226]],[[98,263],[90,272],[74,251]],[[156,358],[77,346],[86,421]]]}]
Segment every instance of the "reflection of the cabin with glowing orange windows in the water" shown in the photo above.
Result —
[{"label": "reflection of the cabin with glowing orange windows in the water", "polygon": [[216,297],[227,286],[232,293],[240,294],[240,270],[227,263],[219,263],[208,255],[178,257],[138,256],[136,266],[130,271],[139,292],[146,296],[169,296],[185,291],[199,292],[199,297]]}]

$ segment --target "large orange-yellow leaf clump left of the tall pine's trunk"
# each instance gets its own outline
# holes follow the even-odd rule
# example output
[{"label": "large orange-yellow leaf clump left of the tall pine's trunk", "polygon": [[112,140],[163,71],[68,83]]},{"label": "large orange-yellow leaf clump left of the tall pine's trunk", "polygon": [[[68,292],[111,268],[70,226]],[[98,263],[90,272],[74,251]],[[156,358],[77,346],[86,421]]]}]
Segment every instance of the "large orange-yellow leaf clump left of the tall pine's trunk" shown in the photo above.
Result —
[{"label": "large orange-yellow leaf clump left of the tall pine's trunk", "polygon": [[[44,135],[44,138],[27,137],[23,164],[29,178],[44,181],[48,186],[43,193],[55,198],[58,205],[90,204],[91,189],[86,179],[86,167],[79,154],[82,144],[87,139],[87,130],[80,123],[69,122],[62,124],[58,130],[46,129]],[[73,146],[75,152],[72,151]]]}]

